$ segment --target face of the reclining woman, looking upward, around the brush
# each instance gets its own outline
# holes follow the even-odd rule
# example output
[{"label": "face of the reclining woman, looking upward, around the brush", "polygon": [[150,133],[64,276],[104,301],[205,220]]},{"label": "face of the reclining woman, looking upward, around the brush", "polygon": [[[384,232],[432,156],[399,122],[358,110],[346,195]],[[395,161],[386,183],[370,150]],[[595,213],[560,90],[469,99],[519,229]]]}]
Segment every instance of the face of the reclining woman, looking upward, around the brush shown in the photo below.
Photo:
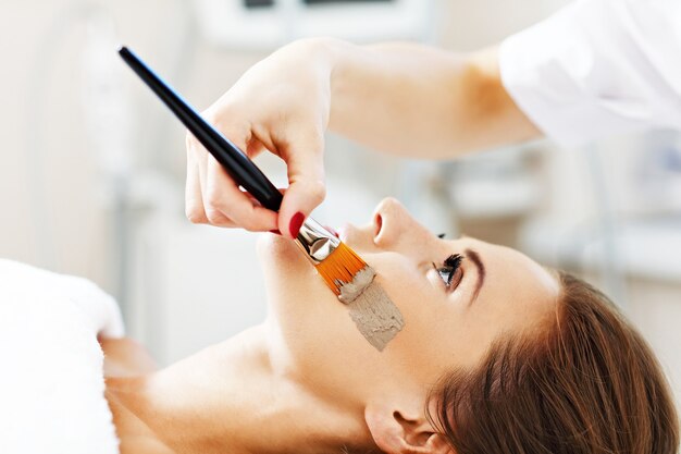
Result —
[{"label": "face of the reclining woman, looking upward, around the brush", "polygon": [[[537,329],[559,293],[527,256],[469,237],[441,240],[395,199],[339,236],[376,271],[404,316],[405,328],[383,352],[364,340],[297,245],[272,234],[259,245],[272,360],[339,402],[394,390],[424,396],[447,371],[474,366],[499,335]],[[444,265],[456,255],[463,257],[458,271]]]}]

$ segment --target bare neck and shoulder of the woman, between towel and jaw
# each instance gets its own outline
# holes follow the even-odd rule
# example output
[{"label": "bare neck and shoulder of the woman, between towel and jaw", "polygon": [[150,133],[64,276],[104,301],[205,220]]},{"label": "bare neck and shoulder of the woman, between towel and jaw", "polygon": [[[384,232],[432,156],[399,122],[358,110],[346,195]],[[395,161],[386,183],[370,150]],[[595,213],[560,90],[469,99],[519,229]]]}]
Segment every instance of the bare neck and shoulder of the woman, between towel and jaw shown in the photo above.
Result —
[{"label": "bare neck and shoulder of the woman, between towel and jaw", "polygon": [[339,453],[370,438],[361,406],[329,402],[273,366],[263,327],[107,386],[122,453],[126,439],[170,452],[267,454]]}]

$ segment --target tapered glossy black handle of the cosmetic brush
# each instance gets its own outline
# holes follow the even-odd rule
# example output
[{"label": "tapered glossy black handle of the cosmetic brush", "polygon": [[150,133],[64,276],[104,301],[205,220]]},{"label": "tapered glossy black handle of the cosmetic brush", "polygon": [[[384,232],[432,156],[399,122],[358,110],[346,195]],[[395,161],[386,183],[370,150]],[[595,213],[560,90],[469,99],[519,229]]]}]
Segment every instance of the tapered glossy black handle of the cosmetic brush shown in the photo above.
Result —
[{"label": "tapered glossy black handle of the cosmetic brush", "polygon": [[203,120],[133,51],[122,47],[119,54],[184,123],[194,137],[213,155],[237,184],[256,197],[263,207],[278,211],[282,206],[282,194],[238,147]]}]

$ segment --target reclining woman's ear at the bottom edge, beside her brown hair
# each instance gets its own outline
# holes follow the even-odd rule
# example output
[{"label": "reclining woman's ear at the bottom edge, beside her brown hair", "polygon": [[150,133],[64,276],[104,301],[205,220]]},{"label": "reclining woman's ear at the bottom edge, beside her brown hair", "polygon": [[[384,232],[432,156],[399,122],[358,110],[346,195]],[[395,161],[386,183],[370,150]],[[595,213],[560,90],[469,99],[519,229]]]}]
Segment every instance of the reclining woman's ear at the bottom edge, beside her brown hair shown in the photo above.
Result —
[{"label": "reclining woman's ear at the bottom edge, beside her brown hair", "polygon": [[403,406],[369,405],[364,419],[376,446],[387,454],[451,454],[445,439],[431,426],[422,410]]}]

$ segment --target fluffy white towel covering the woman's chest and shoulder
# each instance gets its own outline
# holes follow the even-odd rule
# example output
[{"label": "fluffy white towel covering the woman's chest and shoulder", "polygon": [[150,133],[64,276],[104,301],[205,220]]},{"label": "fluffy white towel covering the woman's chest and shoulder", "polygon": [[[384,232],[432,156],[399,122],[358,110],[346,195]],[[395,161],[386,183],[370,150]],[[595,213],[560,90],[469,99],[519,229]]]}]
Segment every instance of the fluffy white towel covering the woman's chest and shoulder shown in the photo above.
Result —
[{"label": "fluffy white towel covering the woman's chest and shoulder", "polygon": [[98,333],[123,322],[95,284],[0,260],[0,453],[119,453]]}]

